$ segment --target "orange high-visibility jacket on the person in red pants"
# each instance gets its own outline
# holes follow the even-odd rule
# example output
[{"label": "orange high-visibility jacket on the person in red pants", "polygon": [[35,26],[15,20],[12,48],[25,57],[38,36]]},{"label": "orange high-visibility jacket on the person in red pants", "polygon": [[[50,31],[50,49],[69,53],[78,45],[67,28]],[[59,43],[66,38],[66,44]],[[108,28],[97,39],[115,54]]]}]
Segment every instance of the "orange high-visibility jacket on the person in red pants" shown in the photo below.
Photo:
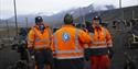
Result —
[{"label": "orange high-visibility jacket on the person in red pants", "polygon": [[[108,47],[113,47],[112,36],[107,28],[99,26],[98,28],[94,27],[94,33],[89,33],[92,37],[92,43],[88,44],[89,48],[93,50],[103,51]],[[107,51],[107,50],[106,50]]]}]

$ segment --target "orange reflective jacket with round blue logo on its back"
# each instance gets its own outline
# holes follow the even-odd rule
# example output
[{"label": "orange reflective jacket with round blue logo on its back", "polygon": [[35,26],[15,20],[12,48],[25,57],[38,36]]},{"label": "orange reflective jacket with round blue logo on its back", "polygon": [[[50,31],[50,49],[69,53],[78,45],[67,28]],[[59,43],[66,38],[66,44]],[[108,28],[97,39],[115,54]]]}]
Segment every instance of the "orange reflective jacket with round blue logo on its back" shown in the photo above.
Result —
[{"label": "orange reflective jacket with round blue logo on its back", "polygon": [[56,59],[83,58],[83,43],[91,43],[91,36],[72,25],[63,25],[52,37],[53,56]]}]

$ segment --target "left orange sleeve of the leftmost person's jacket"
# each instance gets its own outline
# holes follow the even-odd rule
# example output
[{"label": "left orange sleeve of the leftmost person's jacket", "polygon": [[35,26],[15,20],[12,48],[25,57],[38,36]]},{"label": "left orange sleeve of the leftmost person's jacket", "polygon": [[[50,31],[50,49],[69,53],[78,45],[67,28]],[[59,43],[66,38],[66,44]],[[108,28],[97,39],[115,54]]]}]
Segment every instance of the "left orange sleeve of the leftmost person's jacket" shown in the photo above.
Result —
[{"label": "left orange sleeve of the leftmost person's jacket", "polygon": [[34,38],[35,38],[35,34],[34,31],[31,30],[28,34],[28,48],[32,48],[33,44],[34,44]]}]

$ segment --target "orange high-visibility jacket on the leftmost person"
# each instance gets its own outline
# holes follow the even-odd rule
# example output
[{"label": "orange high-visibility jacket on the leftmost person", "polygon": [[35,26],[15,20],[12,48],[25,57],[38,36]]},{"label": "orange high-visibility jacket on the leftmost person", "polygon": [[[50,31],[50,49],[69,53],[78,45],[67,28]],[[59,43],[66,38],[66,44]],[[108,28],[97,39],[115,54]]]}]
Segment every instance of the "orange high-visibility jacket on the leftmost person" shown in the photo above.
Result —
[{"label": "orange high-visibility jacket on the leftmost person", "polygon": [[28,34],[28,48],[34,49],[44,49],[51,48],[51,35],[52,32],[47,25],[44,25],[45,30],[43,33],[39,30],[39,26],[35,25]]}]

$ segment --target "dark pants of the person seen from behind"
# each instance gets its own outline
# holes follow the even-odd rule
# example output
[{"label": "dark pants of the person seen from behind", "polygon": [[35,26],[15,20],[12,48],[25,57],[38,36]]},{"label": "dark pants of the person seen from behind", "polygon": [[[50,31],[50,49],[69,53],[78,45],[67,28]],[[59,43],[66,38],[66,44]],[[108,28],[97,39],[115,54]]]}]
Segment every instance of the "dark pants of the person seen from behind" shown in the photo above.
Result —
[{"label": "dark pants of the person seen from behind", "polygon": [[54,69],[83,69],[84,59],[54,59]]}]

